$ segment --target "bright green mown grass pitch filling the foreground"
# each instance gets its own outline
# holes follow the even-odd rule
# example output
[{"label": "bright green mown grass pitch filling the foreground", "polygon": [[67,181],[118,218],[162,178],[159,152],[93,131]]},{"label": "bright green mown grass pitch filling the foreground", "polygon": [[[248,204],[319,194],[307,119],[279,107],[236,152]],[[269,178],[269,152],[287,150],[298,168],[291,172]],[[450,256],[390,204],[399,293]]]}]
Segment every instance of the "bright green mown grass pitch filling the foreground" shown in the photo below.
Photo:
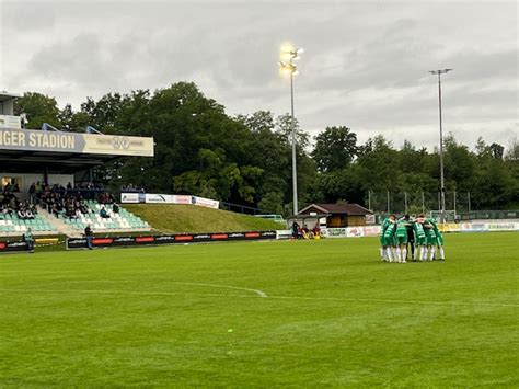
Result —
[{"label": "bright green mown grass pitch filling the foreground", "polygon": [[1,255],[0,387],[518,387],[518,238]]}]

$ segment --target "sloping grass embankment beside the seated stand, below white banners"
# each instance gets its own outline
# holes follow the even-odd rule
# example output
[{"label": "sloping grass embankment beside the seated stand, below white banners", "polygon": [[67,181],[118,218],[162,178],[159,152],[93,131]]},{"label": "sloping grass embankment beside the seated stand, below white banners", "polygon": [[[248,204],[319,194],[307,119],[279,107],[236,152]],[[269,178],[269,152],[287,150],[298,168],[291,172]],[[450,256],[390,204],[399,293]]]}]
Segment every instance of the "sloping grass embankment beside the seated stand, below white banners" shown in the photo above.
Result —
[{"label": "sloping grass embankment beside the seated stand, below white banners", "polygon": [[282,229],[281,224],[195,205],[125,204],[130,213],[169,233],[235,232]]}]

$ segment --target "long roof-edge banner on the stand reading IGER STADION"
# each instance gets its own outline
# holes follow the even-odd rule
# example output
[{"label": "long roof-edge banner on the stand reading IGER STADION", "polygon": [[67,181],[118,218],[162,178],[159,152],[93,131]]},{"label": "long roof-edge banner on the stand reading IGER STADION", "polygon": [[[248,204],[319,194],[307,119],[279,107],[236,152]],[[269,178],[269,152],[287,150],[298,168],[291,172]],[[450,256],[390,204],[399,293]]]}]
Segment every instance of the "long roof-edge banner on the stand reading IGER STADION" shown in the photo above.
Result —
[{"label": "long roof-edge banner on the stand reading IGER STADION", "polygon": [[0,127],[0,149],[153,157],[153,138]]}]

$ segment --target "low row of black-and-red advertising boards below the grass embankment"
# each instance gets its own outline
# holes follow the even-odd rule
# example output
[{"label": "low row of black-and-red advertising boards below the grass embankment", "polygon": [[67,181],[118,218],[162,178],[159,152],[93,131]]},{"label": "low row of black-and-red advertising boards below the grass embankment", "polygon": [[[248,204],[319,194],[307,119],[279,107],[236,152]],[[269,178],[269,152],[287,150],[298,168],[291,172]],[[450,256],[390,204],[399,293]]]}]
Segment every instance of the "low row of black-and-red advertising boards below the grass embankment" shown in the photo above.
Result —
[{"label": "low row of black-and-red advertising boards below the grass embankment", "polygon": [[[196,242],[218,242],[228,240],[262,240],[276,239],[276,231],[246,231],[246,232],[215,232],[215,233],[185,233],[168,236],[142,236],[142,237],[115,237],[94,238],[94,247],[132,247],[132,245],[157,245],[157,244],[183,244]],[[23,249],[25,243],[23,243]],[[86,248],[85,238],[67,239],[67,250]],[[1,250],[0,250],[1,251]]]}]

